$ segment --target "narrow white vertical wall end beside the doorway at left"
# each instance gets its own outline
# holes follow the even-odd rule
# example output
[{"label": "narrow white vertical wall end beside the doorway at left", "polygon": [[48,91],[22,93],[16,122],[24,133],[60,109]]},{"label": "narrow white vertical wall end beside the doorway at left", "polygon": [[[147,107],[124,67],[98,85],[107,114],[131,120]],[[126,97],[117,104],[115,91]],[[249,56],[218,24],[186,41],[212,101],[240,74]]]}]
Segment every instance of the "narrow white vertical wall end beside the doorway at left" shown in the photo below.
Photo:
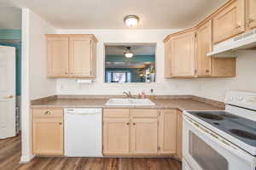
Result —
[{"label": "narrow white vertical wall end beside the doorway at left", "polygon": [[29,94],[29,15],[30,10],[22,8],[21,162],[28,162],[33,158]]}]

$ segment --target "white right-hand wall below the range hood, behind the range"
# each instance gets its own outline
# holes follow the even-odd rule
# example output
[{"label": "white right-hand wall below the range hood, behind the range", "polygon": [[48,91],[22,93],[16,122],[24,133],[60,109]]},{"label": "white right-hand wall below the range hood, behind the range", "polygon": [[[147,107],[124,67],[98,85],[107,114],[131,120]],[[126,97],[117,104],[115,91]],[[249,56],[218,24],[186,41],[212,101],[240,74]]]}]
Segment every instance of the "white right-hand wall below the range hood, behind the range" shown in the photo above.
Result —
[{"label": "white right-hand wall below the range hood, behind the range", "polygon": [[224,101],[227,90],[256,92],[256,51],[239,51],[236,60],[236,77],[203,78],[193,80],[193,94]]}]

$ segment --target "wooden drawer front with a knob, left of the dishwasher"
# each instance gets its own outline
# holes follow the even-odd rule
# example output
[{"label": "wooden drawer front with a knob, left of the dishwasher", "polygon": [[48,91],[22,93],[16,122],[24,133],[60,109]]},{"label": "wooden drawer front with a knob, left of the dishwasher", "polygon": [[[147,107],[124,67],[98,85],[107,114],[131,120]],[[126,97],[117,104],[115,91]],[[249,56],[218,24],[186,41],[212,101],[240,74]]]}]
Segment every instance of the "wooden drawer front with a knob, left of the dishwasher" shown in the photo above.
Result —
[{"label": "wooden drawer front with a knob, left of the dishwasher", "polygon": [[60,108],[44,108],[33,109],[33,117],[63,117],[63,109]]}]

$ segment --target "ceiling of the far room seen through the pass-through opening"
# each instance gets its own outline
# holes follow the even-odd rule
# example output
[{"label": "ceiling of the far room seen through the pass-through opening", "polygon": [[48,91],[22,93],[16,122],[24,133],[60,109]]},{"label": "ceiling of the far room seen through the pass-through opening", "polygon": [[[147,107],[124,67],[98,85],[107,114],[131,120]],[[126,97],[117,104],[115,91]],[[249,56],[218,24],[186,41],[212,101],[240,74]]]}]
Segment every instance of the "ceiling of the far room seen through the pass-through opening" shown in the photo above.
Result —
[{"label": "ceiling of the far room seen through the pass-through opening", "polygon": [[155,54],[155,45],[119,45],[119,46],[106,46],[105,54],[106,55],[124,55],[124,50],[126,47],[131,47],[131,51],[135,55],[154,55]]}]

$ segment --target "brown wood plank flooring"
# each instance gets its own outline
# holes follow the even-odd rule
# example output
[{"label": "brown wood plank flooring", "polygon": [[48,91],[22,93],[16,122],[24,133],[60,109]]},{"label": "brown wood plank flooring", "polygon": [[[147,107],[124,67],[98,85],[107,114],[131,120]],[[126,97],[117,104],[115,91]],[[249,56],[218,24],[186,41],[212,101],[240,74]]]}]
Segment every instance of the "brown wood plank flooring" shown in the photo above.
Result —
[{"label": "brown wood plank flooring", "polygon": [[172,158],[68,158],[36,157],[26,164],[20,161],[20,136],[0,139],[1,170],[181,170]]}]

